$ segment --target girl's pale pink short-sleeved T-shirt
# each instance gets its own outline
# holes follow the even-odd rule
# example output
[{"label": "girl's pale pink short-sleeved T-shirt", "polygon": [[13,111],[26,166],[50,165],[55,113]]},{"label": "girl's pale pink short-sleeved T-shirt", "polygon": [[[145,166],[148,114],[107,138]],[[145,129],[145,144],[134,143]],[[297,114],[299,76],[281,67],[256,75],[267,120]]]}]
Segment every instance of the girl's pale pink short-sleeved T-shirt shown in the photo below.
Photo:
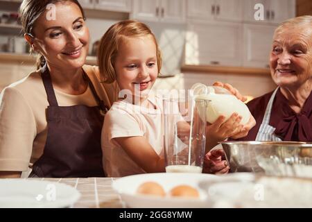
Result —
[{"label": "girl's pale pink short-sleeved T-shirt", "polygon": [[[153,108],[142,108],[125,101],[112,105],[105,116],[102,130],[103,164],[107,176],[120,177],[146,173],[123,148],[112,140],[116,137],[146,137],[157,155],[163,157],[162,105],[150,100]],[[139,150],[138,150],[139,152]]]}]

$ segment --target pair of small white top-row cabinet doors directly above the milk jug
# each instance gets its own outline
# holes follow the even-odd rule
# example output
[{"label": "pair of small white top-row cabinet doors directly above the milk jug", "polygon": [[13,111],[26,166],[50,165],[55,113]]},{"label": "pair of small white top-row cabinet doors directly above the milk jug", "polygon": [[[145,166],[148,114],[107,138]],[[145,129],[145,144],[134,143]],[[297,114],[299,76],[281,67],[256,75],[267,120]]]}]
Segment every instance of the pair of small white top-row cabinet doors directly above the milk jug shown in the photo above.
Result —
[{"label": "pair of small white top-row cabinet doors directly above the milk jug", "polygon": [[188,0],[188,17],[229,22],[241,22],[243,5],[241,0]]}]

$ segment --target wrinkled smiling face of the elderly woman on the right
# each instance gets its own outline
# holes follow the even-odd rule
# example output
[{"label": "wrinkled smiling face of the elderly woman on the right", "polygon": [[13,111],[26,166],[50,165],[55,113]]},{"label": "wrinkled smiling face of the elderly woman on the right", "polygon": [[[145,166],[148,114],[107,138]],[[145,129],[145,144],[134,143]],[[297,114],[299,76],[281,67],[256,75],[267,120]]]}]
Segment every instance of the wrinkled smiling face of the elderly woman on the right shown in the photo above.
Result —
[{"label": "wrinkled smiling face of the elderly woman on the right", "polygon": [[270,69],[281,87],[300,87],[312,78],[312,28],[292,27],[275,33]]}]

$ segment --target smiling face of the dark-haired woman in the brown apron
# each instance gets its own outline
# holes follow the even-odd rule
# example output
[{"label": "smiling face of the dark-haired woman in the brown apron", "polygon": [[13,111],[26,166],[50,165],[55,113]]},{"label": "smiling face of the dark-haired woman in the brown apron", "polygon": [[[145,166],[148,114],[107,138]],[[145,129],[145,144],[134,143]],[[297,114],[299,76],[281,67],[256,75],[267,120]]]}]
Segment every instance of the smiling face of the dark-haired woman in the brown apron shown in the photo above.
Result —
[{"label": "smiling face of the dark-haired woman in the brown apron", "polygon": [[36,20],[33,49],[39,51],[49,65],[65,69],[85,64],[89,47],[89,30],[80,8],[71,1],[55,3]]}]

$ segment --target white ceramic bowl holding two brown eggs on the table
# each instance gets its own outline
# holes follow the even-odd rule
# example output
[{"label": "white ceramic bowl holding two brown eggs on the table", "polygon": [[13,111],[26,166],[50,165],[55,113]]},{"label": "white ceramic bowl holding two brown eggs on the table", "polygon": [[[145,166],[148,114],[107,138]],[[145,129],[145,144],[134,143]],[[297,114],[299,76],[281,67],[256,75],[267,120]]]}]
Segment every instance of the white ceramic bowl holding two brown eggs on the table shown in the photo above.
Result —
[{"label": "white ceramic bowl holding two brown eggs on the table", "polygon": [[[172,207],[211,207],[205,190],[200,188],[200,182],[218,180],[218,176],[205,173],[145,173],[125,176],[113,182],[113,188],[121,195],[128,207],[172,208]],[[173,198],[137,194],[137,188],[144,182],[158,182],[164,191],[177,185],[189,185],[198,189],[200,198]]]}]

